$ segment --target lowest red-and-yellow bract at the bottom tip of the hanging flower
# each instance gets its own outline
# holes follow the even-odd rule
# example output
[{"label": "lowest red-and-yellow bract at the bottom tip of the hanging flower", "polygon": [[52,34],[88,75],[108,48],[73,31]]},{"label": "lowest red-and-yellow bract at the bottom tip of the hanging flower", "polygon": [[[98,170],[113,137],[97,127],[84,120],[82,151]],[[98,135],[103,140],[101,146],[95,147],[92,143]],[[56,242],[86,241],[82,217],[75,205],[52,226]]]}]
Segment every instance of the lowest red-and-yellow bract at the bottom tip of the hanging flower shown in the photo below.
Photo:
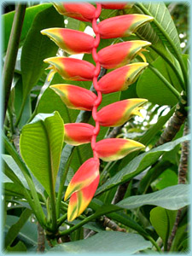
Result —
[{"label": "lowest red-and-yellow bract at the bottom tip of the hanging flower", "polygon": [[77,218],[82,212],[84,212],[85,208],[88,207],[91,199],[96,193],[96,188],[98,187],[98,184],[99,175],[87,187],[73,193],[68,204],[68,221],[73,221],[73,219]]}]

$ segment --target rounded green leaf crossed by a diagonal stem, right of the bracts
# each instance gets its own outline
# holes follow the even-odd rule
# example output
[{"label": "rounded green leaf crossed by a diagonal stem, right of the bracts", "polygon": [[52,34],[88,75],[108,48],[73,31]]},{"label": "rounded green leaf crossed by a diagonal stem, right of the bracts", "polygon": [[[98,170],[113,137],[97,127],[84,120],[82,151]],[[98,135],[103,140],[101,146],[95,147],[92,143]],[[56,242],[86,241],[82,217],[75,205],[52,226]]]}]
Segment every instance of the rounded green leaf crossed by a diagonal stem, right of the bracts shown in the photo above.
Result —
[{"label": "rounded green leaf crossed by a diagonal stem, right of the bracts", "polygon": [[[172,68],[160,56],[153,62],[153,66],[175,87],[181,91],[180,84]],[[150,69],[143,71],[137,81],[137,95],[159,105],[175,105],[177,97],[166,87],[159,77]]]}]

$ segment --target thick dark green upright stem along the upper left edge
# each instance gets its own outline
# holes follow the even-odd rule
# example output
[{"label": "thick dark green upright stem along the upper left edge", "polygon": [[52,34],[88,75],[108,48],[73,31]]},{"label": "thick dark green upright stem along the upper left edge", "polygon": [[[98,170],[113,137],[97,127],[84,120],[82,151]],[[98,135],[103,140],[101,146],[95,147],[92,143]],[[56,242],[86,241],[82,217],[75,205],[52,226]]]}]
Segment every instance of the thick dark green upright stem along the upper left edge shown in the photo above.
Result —
[{"label": "thick dark green upright stem along the upper left edge", "polygon": [[20,44],[20,34],[22,30],[23,20],[26,13],[26,4],[20,3],[15,10],[15,17],[11,29],[8,50],[4,62],[2,81],[4,96],[4,117],[8,108],[10,88],[14,77],[15,61]]}]

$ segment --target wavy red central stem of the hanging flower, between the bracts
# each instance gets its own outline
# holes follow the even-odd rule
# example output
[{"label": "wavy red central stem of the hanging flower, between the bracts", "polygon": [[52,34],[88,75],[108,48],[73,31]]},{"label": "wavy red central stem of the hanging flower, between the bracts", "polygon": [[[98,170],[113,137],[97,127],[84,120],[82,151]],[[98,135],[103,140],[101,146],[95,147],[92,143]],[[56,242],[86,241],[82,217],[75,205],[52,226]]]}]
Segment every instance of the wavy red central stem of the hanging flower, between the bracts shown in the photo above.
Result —
[{"label": "wavy red central stem of the hanging flower, between the bracts", "polygon": [[98,159],[98,155],[97,155],[96,150],[95,150],[96,137],[97,137],[97,135],[99,134],[99,131],[100,131],[100,125],[99,125],[99,122],[97,121],[96,112],[97,112],[98,106],[102,102],[102,92],[98,89],[98,82],[97,82],[99,73],[101,71],[101,65],[100,65],[100,62],[98,61],[98,55],[96,53],[96,49],[97,49],[98,45],[100,44],[100,33],[99,33],[99,28],[96,24],[96,20],[101,15],[101,11],[102,11],[101,3],[96,3],[96,13],[95,13],[94,19],[92,20],[92,28],[93,28],[93,31],[96,34],[96,38],[95,38],[95,41],[94,41],[94,46],[93,46],[93,49],[92,49],[93,60],[96,62],[96,69],[95,69],[94,77],[93,77],[93,86],[96,89],[96,93],[97,93],[97,98],[96,98],[96,101],[94,102],[94,107],[92,109],[92,117],[96,122],[96,127],[93,131],[93,136],[91,138],[91,148],[93,150],[93,156],[96,159]]}]

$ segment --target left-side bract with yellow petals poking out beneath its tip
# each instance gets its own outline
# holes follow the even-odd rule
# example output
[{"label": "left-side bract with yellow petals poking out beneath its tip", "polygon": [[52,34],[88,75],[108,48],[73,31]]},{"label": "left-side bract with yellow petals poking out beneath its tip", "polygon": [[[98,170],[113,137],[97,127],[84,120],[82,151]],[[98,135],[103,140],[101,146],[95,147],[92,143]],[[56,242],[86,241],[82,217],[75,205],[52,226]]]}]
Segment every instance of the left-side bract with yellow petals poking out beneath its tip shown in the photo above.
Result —
[{"label": "left-side bract with yellow petals poking out beneath its tip", "polygon": [[52,70],[50,77],[58,72],[63,79],[75,81],[90,81],[93,79],[95,66],[88,61],[67,57],[51,57],[44,60],[49,63]]}]

